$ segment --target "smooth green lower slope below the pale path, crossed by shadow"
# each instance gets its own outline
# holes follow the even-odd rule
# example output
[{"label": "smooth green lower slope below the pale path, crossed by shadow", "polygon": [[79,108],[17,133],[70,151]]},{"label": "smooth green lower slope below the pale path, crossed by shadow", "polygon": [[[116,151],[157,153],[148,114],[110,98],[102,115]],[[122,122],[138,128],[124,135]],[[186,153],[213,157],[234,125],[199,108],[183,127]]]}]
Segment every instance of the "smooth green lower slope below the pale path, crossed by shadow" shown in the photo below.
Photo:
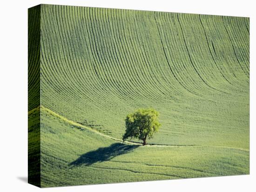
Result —
[{"label": "smooth green lower slope below the pale path, crossed by shadow", "polygon": [[249,173],[248,150],[122,144],[45,108],[41,120],[42,187]]}]

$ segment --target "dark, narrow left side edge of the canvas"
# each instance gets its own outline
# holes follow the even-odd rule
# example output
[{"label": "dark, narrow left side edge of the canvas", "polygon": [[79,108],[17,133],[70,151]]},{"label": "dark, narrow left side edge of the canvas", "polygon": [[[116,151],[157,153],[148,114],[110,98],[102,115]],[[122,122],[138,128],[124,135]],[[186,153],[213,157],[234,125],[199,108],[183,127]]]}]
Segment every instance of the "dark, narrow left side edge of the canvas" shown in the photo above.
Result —
[{"label": "dark, narrow left side edge of the canvas", "polygon": [[40,9],[28,9],[28,183],[40,187]]}]

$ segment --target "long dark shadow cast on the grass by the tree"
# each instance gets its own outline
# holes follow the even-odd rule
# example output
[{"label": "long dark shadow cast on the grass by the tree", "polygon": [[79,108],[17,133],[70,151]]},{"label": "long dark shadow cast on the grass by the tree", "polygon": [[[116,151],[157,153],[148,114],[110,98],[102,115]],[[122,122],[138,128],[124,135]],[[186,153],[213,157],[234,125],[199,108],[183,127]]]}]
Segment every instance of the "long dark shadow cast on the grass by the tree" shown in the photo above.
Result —
[{"label": "long dark shadow cast on the grass by the tree", "polygon": [[114,143],[108,147],[100,147],[94,151],[82,154],[77,160],[74,160],[70,166],[90,166],[97,162],[111,160],[114,157],[122,154],[127,154],[139,147],[139,145],[127,145],[123,143]]}]

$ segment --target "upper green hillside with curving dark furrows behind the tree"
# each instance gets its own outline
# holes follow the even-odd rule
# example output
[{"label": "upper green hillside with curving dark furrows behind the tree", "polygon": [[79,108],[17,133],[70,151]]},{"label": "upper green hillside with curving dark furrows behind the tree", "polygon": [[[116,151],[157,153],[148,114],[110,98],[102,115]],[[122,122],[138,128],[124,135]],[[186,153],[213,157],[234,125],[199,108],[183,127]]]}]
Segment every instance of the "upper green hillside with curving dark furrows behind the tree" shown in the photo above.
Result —
[{"label": "upper green hillside with curving dark furrows behind the tree", "polygon": [[248,18],[42,6],[41,103],[121,138],[160,111],[155,144],[249,148]]}]

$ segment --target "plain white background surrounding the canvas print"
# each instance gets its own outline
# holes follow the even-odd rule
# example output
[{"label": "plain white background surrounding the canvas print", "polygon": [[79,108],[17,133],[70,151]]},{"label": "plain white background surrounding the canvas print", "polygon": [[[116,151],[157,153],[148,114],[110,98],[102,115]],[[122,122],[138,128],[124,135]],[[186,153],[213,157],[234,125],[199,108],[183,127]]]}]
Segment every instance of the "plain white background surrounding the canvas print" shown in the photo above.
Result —
[{"label": "plain white background surrounding the canvas print", "polygon": [[[2,0],[0,2],[0,191],[252,192],[256,190],[254,0]],[[250,175],[39,189],[27,184],[27,8],[40,3],[250,17]]]}]

